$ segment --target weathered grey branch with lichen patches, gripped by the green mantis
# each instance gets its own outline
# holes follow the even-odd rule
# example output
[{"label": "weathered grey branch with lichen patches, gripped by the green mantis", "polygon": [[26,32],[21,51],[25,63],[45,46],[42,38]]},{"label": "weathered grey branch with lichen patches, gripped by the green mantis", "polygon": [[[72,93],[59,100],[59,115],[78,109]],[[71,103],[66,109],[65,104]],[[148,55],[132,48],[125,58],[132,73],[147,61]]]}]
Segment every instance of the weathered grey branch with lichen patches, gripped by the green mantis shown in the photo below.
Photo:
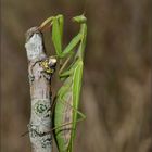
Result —
[{"label": "weathered grey branch with lichen patches, gripped by the green mantis", "polygon": [[56,60],[47,58],[42,34],[37,27],[26,33],[31,114],[28,125],[34,152],[52,152],[51,129],[51,77]]}]

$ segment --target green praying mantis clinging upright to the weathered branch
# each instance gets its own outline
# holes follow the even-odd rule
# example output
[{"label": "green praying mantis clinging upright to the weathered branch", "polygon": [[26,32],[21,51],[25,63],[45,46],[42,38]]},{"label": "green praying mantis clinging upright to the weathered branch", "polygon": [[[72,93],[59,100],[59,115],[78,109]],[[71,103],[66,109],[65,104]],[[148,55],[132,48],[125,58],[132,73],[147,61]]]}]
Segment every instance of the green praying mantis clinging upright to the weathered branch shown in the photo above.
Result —
[{"label": "green praying mantis clinging upright to the weathered branch", "polygon": [[52,26],[52,41],[59,60],[67,59],[66,61],[68,61],[68,59],[74,55],[74,49],[77,47],[77,51],[71,65],[65,71],[64,68],[67,64],[65,61],[59,72],[59,77],[63,85],[59,89],[54,99],[55,106],[53,111],[53,130],[60,152],[73,151],[76,124],[77,122],[85,118],[85,115],[78,111],[78,104],[81,89],[84,53],[87,37],[87,20],[84,15],[80,15],[74,17],[73,21],[80,24],[80,30],[64,50],[62,49],[64,22],[63,16],[58,15],[50,17],[40,25],[40,28],[42,29],[49,24],[49,22],[51,22],[50,25]]}]

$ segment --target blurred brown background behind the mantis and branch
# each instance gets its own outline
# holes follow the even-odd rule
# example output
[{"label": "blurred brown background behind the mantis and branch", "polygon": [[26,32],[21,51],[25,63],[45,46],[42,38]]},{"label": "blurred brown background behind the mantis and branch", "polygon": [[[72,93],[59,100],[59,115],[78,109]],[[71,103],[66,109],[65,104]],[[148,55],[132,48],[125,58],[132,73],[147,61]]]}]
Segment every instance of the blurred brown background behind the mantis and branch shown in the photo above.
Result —
[{"label": "blurred brown background behind the mantis and branch", "polygon": [[[78,31],[71,18],[84,11],[80,111],[87,119],[78,124],[75,152],[152,152],[151,0],[2,0],[1,5],[2,152],[30,151],[28,136],[21,137],[30,116],[24,34],[62,13],[65,46]],[[50,34],[46,37],[52,54]]]}]

